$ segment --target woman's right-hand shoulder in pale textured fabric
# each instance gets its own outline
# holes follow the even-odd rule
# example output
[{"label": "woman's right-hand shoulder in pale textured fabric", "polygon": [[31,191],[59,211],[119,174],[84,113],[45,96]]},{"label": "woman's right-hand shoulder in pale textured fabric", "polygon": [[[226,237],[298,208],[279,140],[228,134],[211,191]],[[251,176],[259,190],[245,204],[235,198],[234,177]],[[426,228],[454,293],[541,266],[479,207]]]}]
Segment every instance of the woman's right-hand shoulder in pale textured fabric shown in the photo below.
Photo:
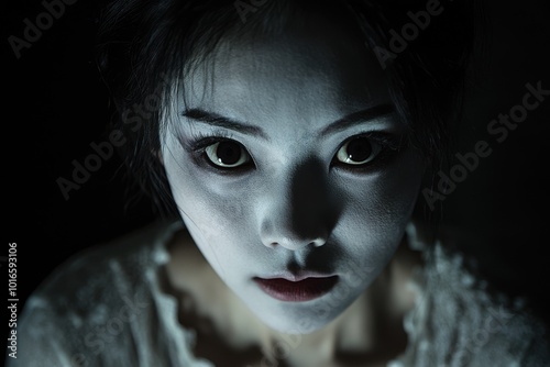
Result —
[{"label": "woman's right-hand shoulder in pale textured fabric", "polygon": [[[524,299],[493,290],[466,266],[464,254],[449,251],[447,242],[460,237],[449,233],[429,246],[417,244],[425,267],[415,279],[419,297],[405,322],[411,341],[407,358],[451,366],[539,366],[550,360],[543,323]],[[409,234],[415,235],[414,229]]]}]

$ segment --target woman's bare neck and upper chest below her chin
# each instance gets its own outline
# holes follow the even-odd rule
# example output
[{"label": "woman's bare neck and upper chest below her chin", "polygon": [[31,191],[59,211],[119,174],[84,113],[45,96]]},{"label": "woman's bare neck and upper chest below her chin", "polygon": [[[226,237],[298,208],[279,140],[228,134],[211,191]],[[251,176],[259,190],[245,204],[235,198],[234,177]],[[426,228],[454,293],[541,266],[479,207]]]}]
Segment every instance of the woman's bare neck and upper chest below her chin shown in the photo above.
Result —
[{"label": "woman's bare neck and upper chest below her chin", "polygon": [[[344,367],[359,363],[374,367],[385,366],[405,351],[403,316],[417,297],[407,283],[422,263],[405,243],[349,309],[323,329],[302,335],[265,325],[213,271],[188,233],[178,233],[169,249],[172,262],[166,270],[170,285],[175,293],[187,296],[180,299],[180,319],[185,326],[198,331],[196,354],[216,366],[271,366],[263,362],[263,353],[275,356],[279,366]],[[202,329],[201,322],[195,322],[197,312],[213,326]],[[220,341],[224,349],[218,346]]]}]

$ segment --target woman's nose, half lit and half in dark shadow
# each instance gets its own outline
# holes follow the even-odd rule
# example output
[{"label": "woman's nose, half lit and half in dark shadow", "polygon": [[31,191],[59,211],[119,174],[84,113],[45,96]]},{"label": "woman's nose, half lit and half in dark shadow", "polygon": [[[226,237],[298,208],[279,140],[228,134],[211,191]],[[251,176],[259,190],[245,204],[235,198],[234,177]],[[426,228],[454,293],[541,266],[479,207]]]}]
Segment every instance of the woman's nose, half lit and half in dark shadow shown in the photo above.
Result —
[{"label": "woman's nose, half lit and half in dark shadow", "polygon": [[318,159],[310,158],[298,165],[286,180],[274,181],[266,198],[268,203],[260,225],[265,246],[299,251],[327,243],[339,209]]}]

